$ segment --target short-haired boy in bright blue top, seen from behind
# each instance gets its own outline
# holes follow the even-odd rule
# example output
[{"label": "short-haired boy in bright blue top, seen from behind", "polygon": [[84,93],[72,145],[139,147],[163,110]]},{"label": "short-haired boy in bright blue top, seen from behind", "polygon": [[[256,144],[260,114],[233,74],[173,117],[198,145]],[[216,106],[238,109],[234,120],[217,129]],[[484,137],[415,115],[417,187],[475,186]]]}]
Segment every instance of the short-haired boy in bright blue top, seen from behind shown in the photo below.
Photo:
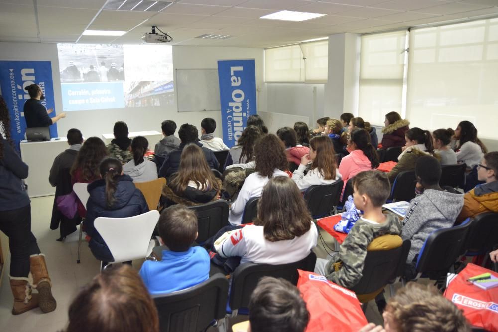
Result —
[{"label": "short-haired boy in bright blue top, seen from behind", "polygon": [[203,247],[193,247],[197,238],[195,211],[174,205],[162,211],[157,229],[162,243],[160,261],[146,260],[140,276],[150,294],[179,291],[209,278],[210,259]]}]

